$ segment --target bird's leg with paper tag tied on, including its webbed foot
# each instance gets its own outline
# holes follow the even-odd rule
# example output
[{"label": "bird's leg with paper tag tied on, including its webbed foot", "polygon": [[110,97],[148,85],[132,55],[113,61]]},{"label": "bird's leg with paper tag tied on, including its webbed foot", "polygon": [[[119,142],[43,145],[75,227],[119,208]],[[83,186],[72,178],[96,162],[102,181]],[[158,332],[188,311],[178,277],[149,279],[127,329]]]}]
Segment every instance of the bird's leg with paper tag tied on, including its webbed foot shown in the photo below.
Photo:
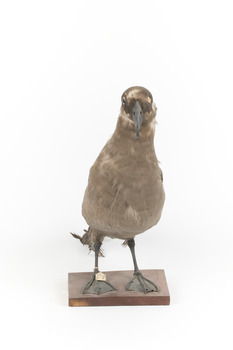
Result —
[{"label": "bird's leg with paper tag tied on, including its webbed foot", "polygon": [[98,258],[99,251],[102,243],[94,243],[95,250],[95,268],[91,279],[87,282],[85,287],[83,288],[83,294],[103,294],[110,292],[111,290],[115,290],[115,288],[105,280],[98,280],[99,274],[99,266],[98,266]]}]

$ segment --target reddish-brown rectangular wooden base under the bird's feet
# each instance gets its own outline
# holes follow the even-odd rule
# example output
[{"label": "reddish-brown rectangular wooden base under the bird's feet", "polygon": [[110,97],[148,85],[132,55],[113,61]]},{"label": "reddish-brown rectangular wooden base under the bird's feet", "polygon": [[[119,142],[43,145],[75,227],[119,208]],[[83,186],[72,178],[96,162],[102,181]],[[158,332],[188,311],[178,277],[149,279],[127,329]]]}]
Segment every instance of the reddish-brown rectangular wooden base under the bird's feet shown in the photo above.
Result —
[{"label": "reddish-brown rectangular wooden base under the bird's feet", "polygon": [[104,272],[107,281],[117,290],[101,295],[83,294],[82,289],[91,278],[92,272],[69,273],[69,306],[169,305],[170,295],[164,270],[141,272],[158,286],[158,292],[144,294],[127,291],[125,288],[133,277],[133,271],[107,271]]}]

